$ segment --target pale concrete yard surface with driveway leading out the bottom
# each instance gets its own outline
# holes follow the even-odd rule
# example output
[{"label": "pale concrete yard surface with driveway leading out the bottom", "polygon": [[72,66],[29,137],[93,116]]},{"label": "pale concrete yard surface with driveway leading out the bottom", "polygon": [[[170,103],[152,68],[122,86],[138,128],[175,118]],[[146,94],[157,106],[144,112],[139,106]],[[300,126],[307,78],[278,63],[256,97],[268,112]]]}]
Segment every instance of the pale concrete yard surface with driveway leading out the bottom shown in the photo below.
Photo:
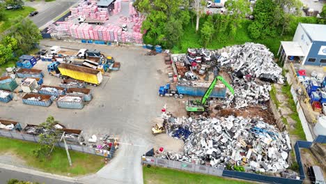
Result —
[{"label": "pale concrete yard surface with driveway leading out the bottom", "polygon": [[[97,174],[81,178],[86,183],[143,183],[141,155],[155,142],[150,132],[153,118],[160,114],[164,100],[157,88],[167,82],[163,55],[144,56],[141,47],[110,47],[42,40],[40,45],[60,45],[69,48],[98,49],[121,62],[121,70],[93,89],[93,100],[84,109],[59,109],[23,105],[21,98],[0,104],[0,117],[20,123],[38,124],[52,115],[68,128],[83,130],[88,136],[109,134],[120,137],[117,156]],[[48,62],[39,61],[33,68],[46,71]],[[58,85],[61,79],[45,72],[45,84]],[[173,100],[173,99],[172,99]],[[170,137],[171,138],[171,137]],[[171,138],[173,139],[173,138]]]}]

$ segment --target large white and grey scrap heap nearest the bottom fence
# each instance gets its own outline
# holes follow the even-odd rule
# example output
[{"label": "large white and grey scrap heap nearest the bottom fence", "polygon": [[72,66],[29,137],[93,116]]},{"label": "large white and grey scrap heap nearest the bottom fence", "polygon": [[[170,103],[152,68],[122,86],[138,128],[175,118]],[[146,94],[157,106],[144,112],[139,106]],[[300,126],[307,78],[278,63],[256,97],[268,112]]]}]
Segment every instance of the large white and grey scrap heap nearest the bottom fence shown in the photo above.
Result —
[{"label": "large white and grey scrap heap nearest the bottom fence", "polygon": [[183,153],[162,153],[161,158],[212,167],[237,164],[246,171],[260,172],[281,172],[289,167],[286,162],[291,149],[288,133],[279,132],[262,118],[163,118],[168,120],[170,136],[182,128],[189,128],[192,133],[185,139]]}]

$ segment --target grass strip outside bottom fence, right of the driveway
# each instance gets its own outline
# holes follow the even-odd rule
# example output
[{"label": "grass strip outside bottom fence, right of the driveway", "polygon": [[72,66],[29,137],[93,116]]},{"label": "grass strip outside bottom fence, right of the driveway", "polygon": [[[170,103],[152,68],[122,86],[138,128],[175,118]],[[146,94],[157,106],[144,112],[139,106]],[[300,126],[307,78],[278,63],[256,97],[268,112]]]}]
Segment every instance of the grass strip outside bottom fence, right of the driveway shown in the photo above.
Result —
[{"label": "grass strip outside bottom fence, right of the driveway", "polygon": [[250,183],[240,180],[232,180],[226,178],[219,178],[216,176],[209,176],[205,174],[194,174],[186,171],[179,171],[176,169],[167,169],[163,167],[143,167],[143,182],[155,184],[197,184],[197,183],[229,183],[242,184]]}]

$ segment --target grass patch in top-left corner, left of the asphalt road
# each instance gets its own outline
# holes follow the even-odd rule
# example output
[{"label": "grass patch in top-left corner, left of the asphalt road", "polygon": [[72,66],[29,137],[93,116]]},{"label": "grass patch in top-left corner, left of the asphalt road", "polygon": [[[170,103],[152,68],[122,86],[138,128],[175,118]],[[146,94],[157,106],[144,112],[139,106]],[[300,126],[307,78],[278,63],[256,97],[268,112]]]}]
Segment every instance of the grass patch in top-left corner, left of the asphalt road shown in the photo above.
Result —
[{"label": "grass patch in top-left corner, left of the asphalt road", "polygon": [[4,15],[6,16],[6,20],[0,22],[0,33],[5,31],[6,29],[10,28],[10,26],[13,25],[13,20],[17,18],[17,15],[20,15],[22,17],[26,17],[31,13],[32,11],[36,10],[35,8],[24,6],[23,8],[19,10],[3,10]]}]

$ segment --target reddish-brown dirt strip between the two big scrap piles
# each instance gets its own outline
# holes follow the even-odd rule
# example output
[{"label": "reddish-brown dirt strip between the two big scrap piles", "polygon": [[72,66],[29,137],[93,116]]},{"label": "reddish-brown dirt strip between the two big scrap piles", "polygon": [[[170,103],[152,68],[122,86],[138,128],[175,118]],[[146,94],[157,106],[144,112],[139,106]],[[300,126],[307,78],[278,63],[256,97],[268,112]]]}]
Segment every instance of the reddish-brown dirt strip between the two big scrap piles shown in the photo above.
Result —
[{"label": "reddish-brown dirt strip between the two big scrap piles", "polygon": [[[263,109],[263,107],[257,105],[257,106],[251,106],[247,107],[246,109],[233,109],[233,108],[227,108],[227,109],[219,109],[216,108],[217,112],[214,114],[215,116],[242,116],[244,118],[255,118],[255,117],[261,117],[266,123],[269,123],[271,125],[275,124],[275,118],[274,114],[270,112],[269,109]],[[214,116],[213,115],[213,116]]]}]

